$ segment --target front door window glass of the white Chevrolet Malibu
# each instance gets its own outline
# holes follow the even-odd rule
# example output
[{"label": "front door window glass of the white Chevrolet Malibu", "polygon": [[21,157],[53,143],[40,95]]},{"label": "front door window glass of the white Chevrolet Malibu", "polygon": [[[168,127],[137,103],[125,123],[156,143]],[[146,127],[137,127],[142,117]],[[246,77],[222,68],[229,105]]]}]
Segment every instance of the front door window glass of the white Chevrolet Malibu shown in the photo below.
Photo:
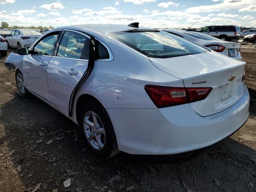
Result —
[{"label": "front door window glass of the white Chevrolet Malibu", "polygon": [[57,37],[58,33],[55,33],[40,40],[40,42],[34,46],[34,54],[53,55],[54,45],[56,43]]}]

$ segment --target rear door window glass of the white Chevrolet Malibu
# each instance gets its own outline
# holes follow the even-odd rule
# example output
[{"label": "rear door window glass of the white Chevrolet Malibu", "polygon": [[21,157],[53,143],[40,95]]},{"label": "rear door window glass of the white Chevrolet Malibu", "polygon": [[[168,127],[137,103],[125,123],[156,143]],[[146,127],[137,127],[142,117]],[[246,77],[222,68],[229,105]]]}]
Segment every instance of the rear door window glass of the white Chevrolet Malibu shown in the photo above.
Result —
[{"label": "rear door window glass of the white Chevrolet Malibu", "polygon": [[89,59],[89,44],[90,39],[86,36],[72,31],[65,31],[58,48],[57,56]]}]

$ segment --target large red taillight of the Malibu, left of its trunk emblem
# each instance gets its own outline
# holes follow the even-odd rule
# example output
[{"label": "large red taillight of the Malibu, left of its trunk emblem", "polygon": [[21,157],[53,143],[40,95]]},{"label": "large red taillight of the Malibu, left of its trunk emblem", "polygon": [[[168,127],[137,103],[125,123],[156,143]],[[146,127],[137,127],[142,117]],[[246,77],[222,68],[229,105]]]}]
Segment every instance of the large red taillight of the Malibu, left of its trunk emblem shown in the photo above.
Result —
[{"label": "large red taillight of the Malibu, left of its trunk emblem", "polygon": [[205,99],[211,87],[184,88],[146,85],[145,90],[158,108],[191,103]]}]

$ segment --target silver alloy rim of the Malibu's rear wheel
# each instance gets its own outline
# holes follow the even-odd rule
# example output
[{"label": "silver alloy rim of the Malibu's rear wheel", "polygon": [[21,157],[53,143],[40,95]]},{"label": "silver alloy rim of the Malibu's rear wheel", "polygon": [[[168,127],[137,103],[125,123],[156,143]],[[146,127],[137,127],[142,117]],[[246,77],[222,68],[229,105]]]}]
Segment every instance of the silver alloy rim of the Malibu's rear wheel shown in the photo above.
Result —
[{"label": "silver alloy rim of the Malibu's rear wheel", "polygon": [[94,149],[101,150],[104,148],[106,143],[105,129],[99,116],[93,111],[84,114],[84,133]]}]

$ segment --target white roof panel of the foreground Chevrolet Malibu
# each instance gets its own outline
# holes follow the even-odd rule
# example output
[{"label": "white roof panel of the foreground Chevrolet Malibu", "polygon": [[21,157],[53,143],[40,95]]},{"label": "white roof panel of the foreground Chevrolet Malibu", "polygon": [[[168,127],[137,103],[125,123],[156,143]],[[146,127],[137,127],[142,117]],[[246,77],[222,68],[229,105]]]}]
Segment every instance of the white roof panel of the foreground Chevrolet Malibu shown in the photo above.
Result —
[{"label": "white roof panel of the foreground Chevrolet Malibu", "polygon": [[72,26],[64,26],[64,27],[58,27],[55,29],[74,29],[74,30],[94,30],[97,32],[102,32],[104,34],[111,33],[111,32],[118,32],[118,31],[124,31],[124,30],[147,30],[152,28],[147,27],[130,27],[127,25],[119,25],[119,24],[90,24],[90,25],[72,25]]}]

